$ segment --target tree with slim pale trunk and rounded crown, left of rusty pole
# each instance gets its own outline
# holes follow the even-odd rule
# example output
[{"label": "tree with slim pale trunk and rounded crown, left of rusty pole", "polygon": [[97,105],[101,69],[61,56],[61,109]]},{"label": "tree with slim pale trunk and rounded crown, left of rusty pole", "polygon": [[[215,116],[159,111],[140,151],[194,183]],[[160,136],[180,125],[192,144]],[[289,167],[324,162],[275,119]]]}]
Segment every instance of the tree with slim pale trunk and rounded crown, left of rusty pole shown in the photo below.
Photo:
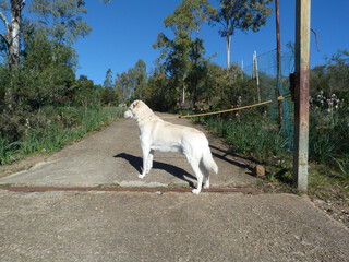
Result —
[{"label": "tree with slim pale trunk and rounded crown, left of rusty pole", "polygon": [[230,69],[231,36],[236,29],[246,32],[260,31],[270,16],[270,9],[267,7],[273,0],[219,0],[220,8],[214,21],[220,24],[218,31],[221,37],[226,38],[227,69]]}]

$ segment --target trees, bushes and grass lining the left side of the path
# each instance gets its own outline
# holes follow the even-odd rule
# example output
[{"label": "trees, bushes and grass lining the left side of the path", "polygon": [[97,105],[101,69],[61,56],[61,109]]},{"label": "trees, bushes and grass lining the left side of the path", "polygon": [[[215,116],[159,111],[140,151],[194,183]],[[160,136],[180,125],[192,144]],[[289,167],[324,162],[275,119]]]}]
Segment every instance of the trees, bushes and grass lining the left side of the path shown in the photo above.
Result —
[{"label": "trees, bushes and grass lining the left side of the path", "polygon": [[7,33],[17,33],[0,35],[0,165],[62,148],[121,116],[111,71],[104,85],[75,75],[72,44],[91,32],[83,1],[1,1],[0,12]]}]

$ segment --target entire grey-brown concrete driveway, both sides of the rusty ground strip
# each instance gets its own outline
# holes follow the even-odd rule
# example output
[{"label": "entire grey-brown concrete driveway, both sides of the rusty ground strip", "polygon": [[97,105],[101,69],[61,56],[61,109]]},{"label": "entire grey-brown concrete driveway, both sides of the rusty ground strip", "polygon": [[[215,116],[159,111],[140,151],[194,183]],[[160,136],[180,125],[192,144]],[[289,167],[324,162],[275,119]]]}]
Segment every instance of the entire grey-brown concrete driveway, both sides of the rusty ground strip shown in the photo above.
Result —
[{"label": "entire grey-brown concrete driveway, both sides of the rusty ground strip", "polygon": [[[248,163],[229,156],[219,140],[209,141],[219,166],[213,187],[256,183]],[[177,154],[155,154],[155,167],[143,180],[140,170],[137,128],[122,119],[0,183],[195,182]],[[348,229],[306,196],[0,189],[0,261],[349,261],[348,247]]]}]

